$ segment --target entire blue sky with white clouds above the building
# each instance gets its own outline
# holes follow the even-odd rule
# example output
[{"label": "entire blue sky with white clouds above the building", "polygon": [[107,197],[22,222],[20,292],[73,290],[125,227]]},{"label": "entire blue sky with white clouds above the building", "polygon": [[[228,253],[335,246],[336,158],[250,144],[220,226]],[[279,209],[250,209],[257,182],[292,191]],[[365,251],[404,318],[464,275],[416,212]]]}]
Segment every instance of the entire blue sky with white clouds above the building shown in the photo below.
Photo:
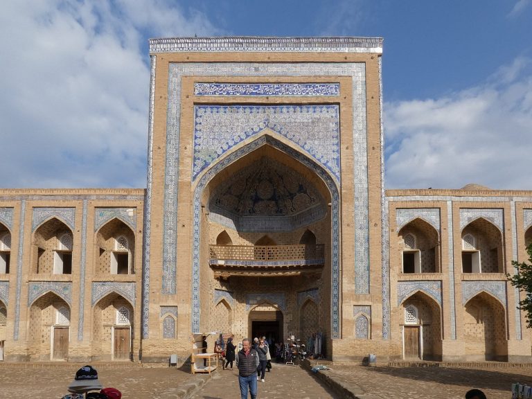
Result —
[{"label": "entire blue sky with white clouds above the building", "polygon": [[532,189],[532,0],[8,0],[0,188],[145,188],[148,39],[383,37],[386,188]]}]

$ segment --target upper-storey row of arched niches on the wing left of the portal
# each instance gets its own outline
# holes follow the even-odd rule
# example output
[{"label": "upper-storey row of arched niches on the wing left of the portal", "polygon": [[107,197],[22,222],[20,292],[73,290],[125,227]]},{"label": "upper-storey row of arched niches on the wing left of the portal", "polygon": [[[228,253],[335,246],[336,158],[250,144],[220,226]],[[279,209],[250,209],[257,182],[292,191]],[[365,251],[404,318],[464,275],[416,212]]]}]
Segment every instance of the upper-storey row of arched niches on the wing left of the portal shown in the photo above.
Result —
[{"label": "upper-storey row of arched niches on the wing left of the portal", "polygon": [[140,270],[143,190],[2,191],[3,279],[72,281],[83,273],[105,280]]}]

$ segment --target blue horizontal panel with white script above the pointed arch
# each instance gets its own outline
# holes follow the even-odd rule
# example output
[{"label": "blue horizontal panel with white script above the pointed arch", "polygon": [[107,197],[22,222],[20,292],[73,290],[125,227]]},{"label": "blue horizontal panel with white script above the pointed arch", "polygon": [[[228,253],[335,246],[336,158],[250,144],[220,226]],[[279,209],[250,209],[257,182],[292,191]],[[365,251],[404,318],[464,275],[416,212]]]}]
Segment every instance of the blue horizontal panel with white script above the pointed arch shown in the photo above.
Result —
[{"label": "blue horizontal panel with white script above the pointed arch", "polygon": [[194,83],[195,96],[339,96],[339,83]]}]

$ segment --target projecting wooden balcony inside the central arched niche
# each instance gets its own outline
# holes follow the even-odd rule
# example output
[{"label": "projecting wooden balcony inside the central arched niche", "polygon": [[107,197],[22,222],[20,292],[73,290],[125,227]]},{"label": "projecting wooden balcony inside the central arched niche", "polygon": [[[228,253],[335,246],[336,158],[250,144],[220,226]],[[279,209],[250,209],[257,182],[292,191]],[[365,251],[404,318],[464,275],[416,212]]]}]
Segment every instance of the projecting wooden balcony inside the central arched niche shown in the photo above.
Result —
[{"label": "projecting wooden balcony inside the central arched niche", "polygon": [[216,278],[319,274],[324,245],[211,245],[209,264]]}]

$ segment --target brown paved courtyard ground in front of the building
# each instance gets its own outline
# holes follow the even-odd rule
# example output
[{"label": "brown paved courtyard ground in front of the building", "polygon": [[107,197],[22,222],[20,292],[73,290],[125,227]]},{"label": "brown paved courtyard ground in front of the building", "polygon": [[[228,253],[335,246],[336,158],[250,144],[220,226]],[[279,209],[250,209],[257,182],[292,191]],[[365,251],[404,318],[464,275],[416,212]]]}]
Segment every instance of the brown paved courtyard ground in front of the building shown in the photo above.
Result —
[{"label": "brown paved courtyard ground in front of the building", "polygon": [[[124,399],[236,399],[238,374],[218,369],[209,377],[185,370],[147,368],[116,364],[93,364],[105,387],[122,391]],[[24,367],[24,368],[22,368]],[[51,368],[53,367],[53,368]],[[74,365],[0,364],[0,398],[60,399],[76,370]],[[488,399],[511,398],[513,382],[532,385],[532,366],[509,365],[490,369],[434,367],[364,367],[331,364],[330,370],[314,374],[299,366],[274,364],[265,382],[258,382],[258,399],[274,398],[401,398],[463,399],[472,387],[482,389]],[[337,388],[333,391],[331,387]],[[338,390],[339,388],[339,390]],[[351,391],[345,395],[347,389]]]}]

